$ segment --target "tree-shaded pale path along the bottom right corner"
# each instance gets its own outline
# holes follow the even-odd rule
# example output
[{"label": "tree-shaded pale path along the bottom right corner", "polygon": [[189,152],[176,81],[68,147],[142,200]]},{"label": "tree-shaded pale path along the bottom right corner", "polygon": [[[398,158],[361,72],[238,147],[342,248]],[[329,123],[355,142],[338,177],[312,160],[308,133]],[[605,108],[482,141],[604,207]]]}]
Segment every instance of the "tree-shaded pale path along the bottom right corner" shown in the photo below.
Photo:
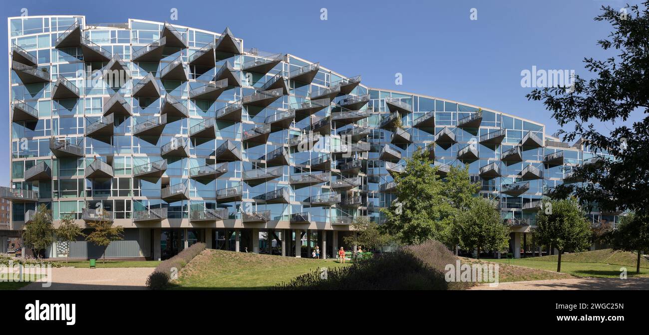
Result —
[{"label": "tree-shaded pale path along the bottom right corner", "polygon": [[498,287],[474,286],[470,290],[649,290],[649,277],[640,278],[577,278],[546,281],[500,283]]}]

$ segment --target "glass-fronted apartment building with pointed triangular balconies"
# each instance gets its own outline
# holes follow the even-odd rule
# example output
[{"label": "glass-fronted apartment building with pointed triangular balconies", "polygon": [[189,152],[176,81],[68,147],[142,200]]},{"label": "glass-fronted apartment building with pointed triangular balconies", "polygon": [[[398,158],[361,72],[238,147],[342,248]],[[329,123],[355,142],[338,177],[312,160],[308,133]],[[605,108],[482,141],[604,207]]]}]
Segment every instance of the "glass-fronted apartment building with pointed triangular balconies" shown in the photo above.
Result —
[{"label": "glass-fronted apartment building with pointed triangular balconies", "polygon": [[[393,176],[424,148],[443,175],[469,165],[500,201],[512,249],[543,193],[596,161],[515,115],[375,89],[292,54],[219,33],[84,16],[8,19],[12,228],[44,203],[125,227],[107,257],[209,248],[334,255],[356,216],[381,222]],[[356,74],[352,74],[356,75]],[[593,213],[596,224],[616,213]],[[517,243],[518,241],[518,243]],[[99,257],[56,243],[49,257]]]}]

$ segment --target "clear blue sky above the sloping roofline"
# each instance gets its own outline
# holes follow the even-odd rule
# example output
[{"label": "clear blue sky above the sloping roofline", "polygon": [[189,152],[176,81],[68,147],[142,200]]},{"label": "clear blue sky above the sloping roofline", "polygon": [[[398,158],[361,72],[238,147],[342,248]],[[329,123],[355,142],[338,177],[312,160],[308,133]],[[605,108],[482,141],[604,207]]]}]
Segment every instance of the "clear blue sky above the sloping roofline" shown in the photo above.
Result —
[{"label": "clear blue sky above the sloping roofline", "polygon": [[[606,58],[596,41],[611,27],[596,22],[602,5],[622,8],[640,1],[2,1],[5,16],[84,15],[88,23],[125,23],[129,18],[221,32],[229,26],[247,48],[291,53],[348,76],[362,75],[370,87],[448,98],[520,115],[558,130],[539,102],[521,87],[524,69],[568,69],[582,75],[585,56]],[[110,4],[110,5],[109,5]],[[327,20],[321,20],[321,8]],[[471,9],[477,20],[471,20]],[[6,20],[5,20],[6,21]],[[1,34],[7,45],[6,24]],[[4,48],[4,47],[3,47]],[[0,62],[7,64],[8,51]],[[395,84],[401,73],[402,85]],[[0,122],[8,132],[8,72],[0,71]],[[600,125],[607,132],[605,124]],[[0,157],[8,158],[8,136]],[[8,162],[8,160],[6,161]],[[0,185],[8,185],[8,163],[0,163]]]}]

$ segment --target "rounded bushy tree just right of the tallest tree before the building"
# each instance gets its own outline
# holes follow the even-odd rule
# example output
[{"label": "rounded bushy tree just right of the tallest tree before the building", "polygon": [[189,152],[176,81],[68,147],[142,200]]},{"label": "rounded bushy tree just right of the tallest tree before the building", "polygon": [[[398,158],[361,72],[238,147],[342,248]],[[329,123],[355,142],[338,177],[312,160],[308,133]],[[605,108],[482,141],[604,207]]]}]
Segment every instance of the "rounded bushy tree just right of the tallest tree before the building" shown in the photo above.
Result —
[{"label": "rounded bushy tree just right of the tallest tree before the building", "polygon": [[508,246],[509,227],[500,220],[494,200],[471,198],[468,209],[459,211],[454,221],[454,235],[463,249],[501,250]]}]

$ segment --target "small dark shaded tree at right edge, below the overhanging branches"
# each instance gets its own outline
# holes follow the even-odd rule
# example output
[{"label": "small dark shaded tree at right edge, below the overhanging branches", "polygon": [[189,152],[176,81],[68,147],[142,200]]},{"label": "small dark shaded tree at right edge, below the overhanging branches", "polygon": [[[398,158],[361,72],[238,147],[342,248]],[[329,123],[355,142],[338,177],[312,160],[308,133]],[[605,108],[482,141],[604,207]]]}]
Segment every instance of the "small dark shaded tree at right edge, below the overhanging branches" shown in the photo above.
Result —
[{"label": "small dark shaded tree at right edge, below the overhanging branches", "polygon": [[635,213],[622,216],[613,231],[607,234],[608,242],[613,250],[637,252],[635,272],[640,273],[640,260],[643,250],[649,249],[649,220]]}]

